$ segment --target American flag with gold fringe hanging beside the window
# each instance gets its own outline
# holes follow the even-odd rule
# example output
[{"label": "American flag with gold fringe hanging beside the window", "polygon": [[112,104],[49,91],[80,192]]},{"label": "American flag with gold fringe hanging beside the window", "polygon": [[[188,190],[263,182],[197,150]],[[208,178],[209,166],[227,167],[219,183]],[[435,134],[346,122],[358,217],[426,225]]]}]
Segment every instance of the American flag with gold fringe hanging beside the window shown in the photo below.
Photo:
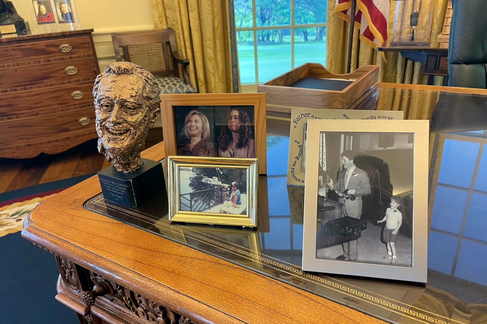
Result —
[{"label": "American flag with gold fringe hanging beside the window", "polygon": [[[355,28],[360,29],[360,41],[375,48],[385,46],[389,24],[390,0],[356,0]],[[350,23],[352,0],[336,0],[335,13]]]}]

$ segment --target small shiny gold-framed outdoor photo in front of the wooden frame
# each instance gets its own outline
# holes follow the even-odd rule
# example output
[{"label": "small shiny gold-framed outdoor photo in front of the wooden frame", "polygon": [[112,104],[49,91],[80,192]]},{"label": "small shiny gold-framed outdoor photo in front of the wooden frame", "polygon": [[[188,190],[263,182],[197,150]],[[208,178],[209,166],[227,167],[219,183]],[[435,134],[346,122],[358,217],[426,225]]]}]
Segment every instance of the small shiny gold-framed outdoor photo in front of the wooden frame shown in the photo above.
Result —
[{"label": "small shiny gold-framed outdoor photo in front of the wooden frame", "polygon": [[257,227],[258,160],[168,157],[169,221]]}]

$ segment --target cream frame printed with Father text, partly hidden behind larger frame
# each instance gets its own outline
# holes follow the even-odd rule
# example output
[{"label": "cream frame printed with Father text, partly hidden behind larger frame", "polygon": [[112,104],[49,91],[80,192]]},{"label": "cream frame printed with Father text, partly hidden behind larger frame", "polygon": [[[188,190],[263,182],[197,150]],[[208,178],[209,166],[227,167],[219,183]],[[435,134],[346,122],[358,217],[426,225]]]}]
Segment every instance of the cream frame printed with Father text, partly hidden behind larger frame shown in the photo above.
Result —
[{"label": "cream frame printed with Father text, partly hidden behind larger frame", "polygon": [[[403,119],[402,111],[293,108],[289,132],[287,184],[304,186],[308,119]],[[322,171],[322,170],[321,170]]]}]

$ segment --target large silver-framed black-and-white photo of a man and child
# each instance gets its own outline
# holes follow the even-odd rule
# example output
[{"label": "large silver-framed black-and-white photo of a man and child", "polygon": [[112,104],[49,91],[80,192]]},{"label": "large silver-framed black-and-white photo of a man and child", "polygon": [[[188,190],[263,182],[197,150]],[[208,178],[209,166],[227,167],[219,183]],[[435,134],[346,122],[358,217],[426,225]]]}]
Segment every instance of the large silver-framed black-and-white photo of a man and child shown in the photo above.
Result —
[{"label": "large silver-framed black-and-white photo of a man and child", "polygon": [[303,271],[425,283],[429,121],[307,128]]}]

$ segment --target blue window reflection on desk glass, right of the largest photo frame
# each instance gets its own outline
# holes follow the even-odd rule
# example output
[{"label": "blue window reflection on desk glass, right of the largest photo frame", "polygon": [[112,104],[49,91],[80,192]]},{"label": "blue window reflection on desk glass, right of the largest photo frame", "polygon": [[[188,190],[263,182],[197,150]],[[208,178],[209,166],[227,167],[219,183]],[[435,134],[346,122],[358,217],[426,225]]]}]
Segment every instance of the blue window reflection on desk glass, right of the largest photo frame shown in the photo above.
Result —
[{"label": "blue window reflection on desk glass, right of the largest photo frame", "polygon": [[487,285],[487,131],[447,134],[433,205],[428,267]]}]

